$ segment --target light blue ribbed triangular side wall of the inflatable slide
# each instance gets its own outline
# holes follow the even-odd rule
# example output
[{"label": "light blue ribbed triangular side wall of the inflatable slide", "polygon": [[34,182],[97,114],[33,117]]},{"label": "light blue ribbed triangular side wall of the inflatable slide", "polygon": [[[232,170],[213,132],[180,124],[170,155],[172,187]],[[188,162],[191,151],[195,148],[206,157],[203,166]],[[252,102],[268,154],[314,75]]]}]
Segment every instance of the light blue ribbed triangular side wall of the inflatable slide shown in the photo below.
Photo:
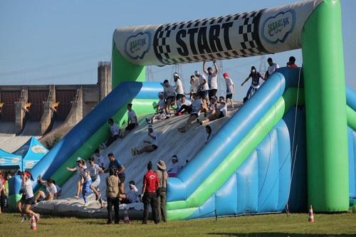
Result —
[{"label": "light blue ribbed triangular side wall of the inflatable slide", "polygon": [[[278,125],[263,139],[263,142],[251,153],[241,167],[216,191],[202,206],[189,216],[205,218],[217,216],[235,216],[281,212],[285,209],[289,192],[293,157],[291,142],[293,137],[295,110],[291,109]],[[303,111],[298,111],[298,119],[303,120]],[[292,119],[293,118],[293,119]],[[303,125],[303,124],[300,124]],[[305,130],[305,127],[298,127]],[[305,135],[305,133],[303,133]],[[296,136],[295,143],[303,146],[305,137]],[[305,162],[305,150],[300,150],[295,166]],[[300,182],[305,171],[297,169],[292,181]],[[302,179],[303,182],[303,179]],[[295,208],[307,199],[306,186],[294,185],[300,199],[290,202]]]}]

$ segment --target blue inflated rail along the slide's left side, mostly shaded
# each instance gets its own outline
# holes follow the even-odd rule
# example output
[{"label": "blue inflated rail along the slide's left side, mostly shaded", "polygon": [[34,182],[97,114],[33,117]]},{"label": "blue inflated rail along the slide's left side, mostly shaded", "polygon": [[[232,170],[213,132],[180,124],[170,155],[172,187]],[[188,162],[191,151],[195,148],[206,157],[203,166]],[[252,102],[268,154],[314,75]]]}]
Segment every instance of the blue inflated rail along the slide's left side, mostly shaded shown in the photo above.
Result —
[{"label": "blue inflated rail along the slide's left side, mostly shaded", "polygon": [[[31,169],[33,177],[37,177],[38,174],[45,179],[51,177],[58,167],[61,167],[112,115],[115,115],[117,110],[125,107],[127,102],[134,98],[157,99],[157,94],[162,90],[160,83],[121,83]],[[38,184],[33,184],[34,189],[37,186]]]}]

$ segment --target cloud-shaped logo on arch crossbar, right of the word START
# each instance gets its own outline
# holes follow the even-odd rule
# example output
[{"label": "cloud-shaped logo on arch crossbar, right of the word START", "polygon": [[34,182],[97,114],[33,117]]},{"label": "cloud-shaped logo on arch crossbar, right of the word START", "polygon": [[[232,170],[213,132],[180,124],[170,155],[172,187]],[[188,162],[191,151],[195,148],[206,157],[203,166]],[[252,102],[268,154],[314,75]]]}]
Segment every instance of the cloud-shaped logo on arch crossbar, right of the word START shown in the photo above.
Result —
[{"label": "cloud-shaped logo on arch crossbar, right of the word START", "polygon": [[283,43],[295,28],[295,11],[281,11],[276,16],[268,17],[263,21],[261,36],[271,44]]}]

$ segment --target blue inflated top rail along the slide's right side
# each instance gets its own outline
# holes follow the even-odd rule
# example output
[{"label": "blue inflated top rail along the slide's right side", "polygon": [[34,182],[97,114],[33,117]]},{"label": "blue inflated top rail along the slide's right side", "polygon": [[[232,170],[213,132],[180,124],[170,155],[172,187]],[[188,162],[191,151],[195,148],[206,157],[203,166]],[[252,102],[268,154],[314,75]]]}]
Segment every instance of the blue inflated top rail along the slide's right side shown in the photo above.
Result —
[{"label": "blue inflated top rail along the slide's right side", "polygon": [[277,73],[273,73],[258,92],[206,144],[197,157],[184,167],[177,178],[169,179],[170,191],[167,201],[187,199],[281,98],[286,83],[288,87],[298,86],[299,75],[300,68],[281,68]]}]

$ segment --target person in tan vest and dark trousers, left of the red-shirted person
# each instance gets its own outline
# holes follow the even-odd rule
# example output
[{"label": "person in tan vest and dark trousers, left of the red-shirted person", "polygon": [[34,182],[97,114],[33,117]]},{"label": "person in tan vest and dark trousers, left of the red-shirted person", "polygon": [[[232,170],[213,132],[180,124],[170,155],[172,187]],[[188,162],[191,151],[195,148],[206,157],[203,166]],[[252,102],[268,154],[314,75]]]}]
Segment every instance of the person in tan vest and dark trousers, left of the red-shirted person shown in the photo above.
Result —
[{"label": "person in tan vest and dark trousers, left of the red-shirted person", "polygon": [[106,182],[106,200],[108,201],[108,224],[112,223],[112,206],[114,207],[115,223],[119,223],[119,183],[120,180],[116,176],[114,167],[108,169],[109,176],[105,179]]}]

